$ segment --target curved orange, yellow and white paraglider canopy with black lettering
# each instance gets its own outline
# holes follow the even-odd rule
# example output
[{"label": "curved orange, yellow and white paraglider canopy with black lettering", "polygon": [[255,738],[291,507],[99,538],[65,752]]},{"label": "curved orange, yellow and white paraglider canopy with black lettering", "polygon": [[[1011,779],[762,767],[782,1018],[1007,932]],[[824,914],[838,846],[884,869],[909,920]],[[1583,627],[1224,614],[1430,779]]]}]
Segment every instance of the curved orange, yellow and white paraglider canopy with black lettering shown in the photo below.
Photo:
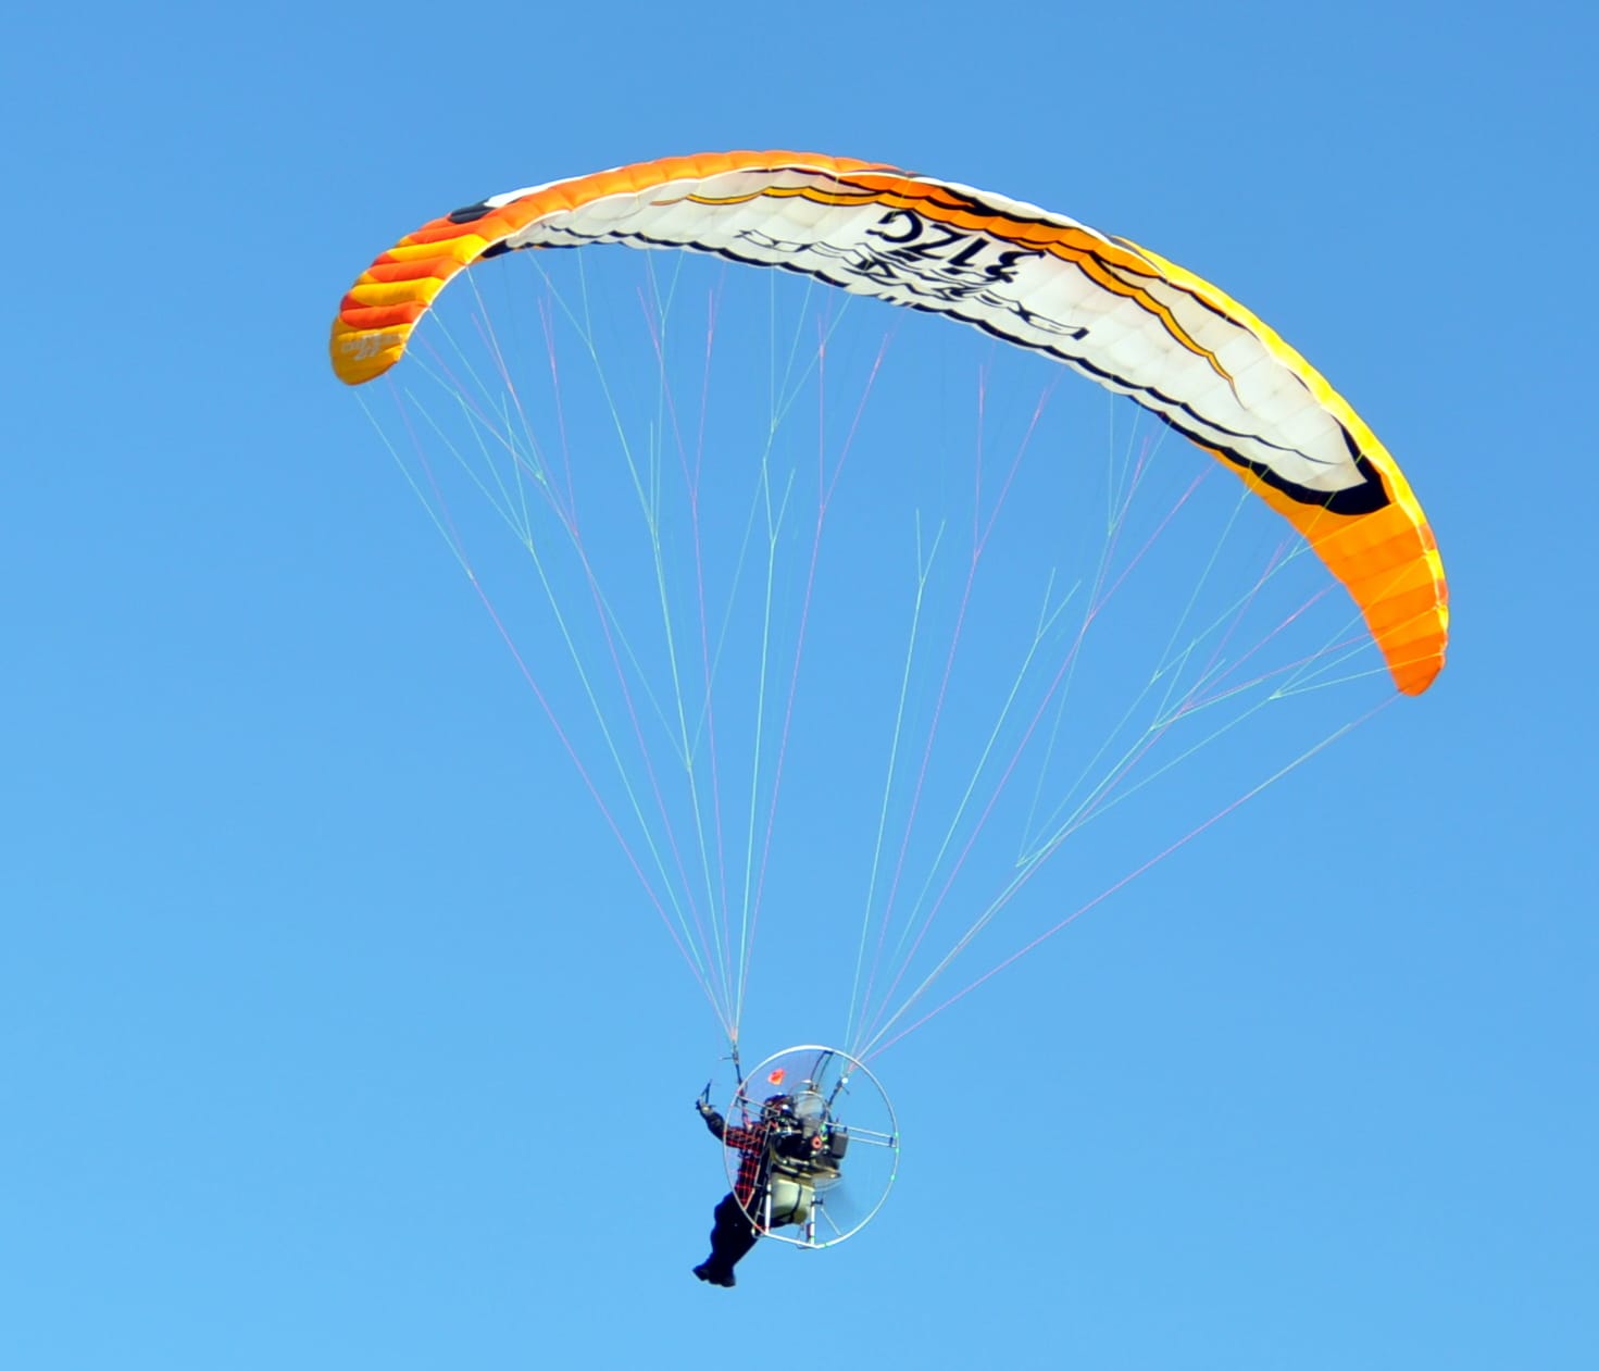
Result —
[{"label": "curved orange, yellow and white paraglider canopy with black lettering", "polygon": [[1449,632],[1442,562],[1398,462],[1298,352],[1217,286],[987,190],[795,152],[668,157],[456,210],[379,256],[333,326],[336,374],[381,376],[478,258],[624,243],[782,267],[1043,352],[1228,464],[1354,597],[1398,688],[1420,694]]}]

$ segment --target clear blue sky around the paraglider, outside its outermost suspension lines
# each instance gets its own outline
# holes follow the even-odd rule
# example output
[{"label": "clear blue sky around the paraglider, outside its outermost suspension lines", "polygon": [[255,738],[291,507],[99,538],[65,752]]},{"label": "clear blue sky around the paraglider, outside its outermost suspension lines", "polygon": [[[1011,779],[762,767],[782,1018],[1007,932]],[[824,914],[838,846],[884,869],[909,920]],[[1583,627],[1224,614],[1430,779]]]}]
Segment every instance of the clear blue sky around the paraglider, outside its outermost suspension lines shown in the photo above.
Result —
[{"label": "clear blue sky around the paraglider, outside its outermost suspension lines", "polygon": [[[1591,1365],[1594,37],[1577,5],[13,21],[6,1360]],[[887,1053],[883,1216],[729,1296],[688,1275],[715,1021],[325,339],[457,203],[768,146],[1218,282],[1404,464],[1455,637],[1425,699]],[[752,1024],[787,1046],[804,1008]]]}]

